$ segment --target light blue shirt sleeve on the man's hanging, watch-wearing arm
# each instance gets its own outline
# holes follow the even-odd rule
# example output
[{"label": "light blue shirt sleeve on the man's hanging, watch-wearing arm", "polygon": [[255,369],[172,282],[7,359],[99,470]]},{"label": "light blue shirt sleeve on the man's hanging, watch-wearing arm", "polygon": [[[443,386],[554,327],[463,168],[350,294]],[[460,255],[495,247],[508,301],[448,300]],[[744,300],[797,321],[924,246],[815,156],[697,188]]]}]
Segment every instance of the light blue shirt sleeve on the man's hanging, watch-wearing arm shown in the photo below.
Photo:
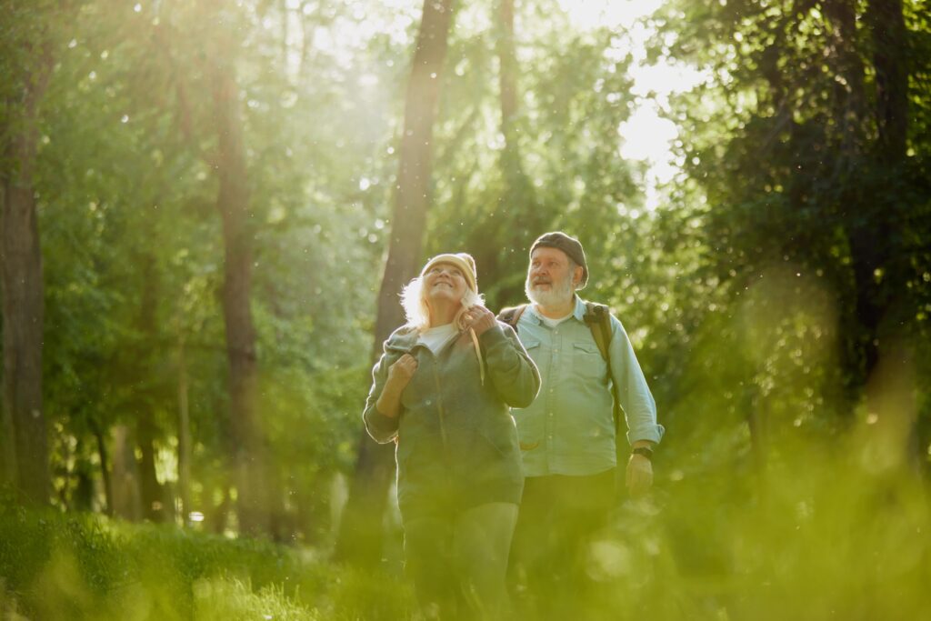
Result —
[{"label": "light blue shirt sleeve on the man's hanging, watch-wearing arm", "polygon": [[627,441],[659,443],[665,429],[656,422],[656,402],[634,354],[627,331],[617,317],[611,317],[611,371],[621,408],[627,421]]}]

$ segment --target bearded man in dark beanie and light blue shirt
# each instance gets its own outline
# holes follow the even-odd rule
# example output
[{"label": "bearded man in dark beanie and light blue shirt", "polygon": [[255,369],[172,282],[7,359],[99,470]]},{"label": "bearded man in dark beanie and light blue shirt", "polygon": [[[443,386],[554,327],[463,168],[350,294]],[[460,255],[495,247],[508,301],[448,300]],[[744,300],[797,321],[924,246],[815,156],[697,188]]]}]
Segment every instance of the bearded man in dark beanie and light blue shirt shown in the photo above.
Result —
[{"label": "bearded man in dark beanie and light blue shirt", "polygon": [[632,495],[653,483],[651,458],[664,429],[621,322],[575,293],[588,280],[582,244],[546,233],[530,260],[531,304],[499,316],[515,327],[542,379],[533,404],[512,411],[526,477],[513,553],[531,587],[554,580],[568,587],[582,577],[587,541],[614,499],[614,398],[627,423]]}]

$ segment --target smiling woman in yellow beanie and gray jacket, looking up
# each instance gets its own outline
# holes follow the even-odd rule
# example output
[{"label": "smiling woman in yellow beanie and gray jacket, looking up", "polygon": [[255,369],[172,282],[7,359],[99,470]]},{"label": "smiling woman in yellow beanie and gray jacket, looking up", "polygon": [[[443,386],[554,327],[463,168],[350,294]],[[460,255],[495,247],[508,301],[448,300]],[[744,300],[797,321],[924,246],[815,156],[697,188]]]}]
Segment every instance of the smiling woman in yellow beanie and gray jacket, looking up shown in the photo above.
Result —
[{"label": "smiling woman in yellow beanie and gray jacket, looking up", "polygon": [[373,439],[397,442],[408,572],[427,614],[465,601],[495,616],[523,490],[508,406],[530,405],[540,376],[482,305],[468,254],[430,259],[402,304],[408,321],[385,341],[364,418]]}]

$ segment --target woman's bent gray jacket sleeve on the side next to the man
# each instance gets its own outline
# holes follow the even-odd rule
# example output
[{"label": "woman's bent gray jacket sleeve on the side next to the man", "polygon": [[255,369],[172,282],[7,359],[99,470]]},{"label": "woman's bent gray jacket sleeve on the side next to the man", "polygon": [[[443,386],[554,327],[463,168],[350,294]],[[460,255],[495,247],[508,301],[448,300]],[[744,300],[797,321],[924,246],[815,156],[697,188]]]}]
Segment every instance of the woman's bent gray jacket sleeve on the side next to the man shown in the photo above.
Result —
[{"label": "woman's bent gray jacket sleeve on the side next to the man", "polygon": [[526,408],[540,391],[540,371],[537,371],[518,335],[505,323],[482,333],[485,364],[495,391],[512,408]]}]

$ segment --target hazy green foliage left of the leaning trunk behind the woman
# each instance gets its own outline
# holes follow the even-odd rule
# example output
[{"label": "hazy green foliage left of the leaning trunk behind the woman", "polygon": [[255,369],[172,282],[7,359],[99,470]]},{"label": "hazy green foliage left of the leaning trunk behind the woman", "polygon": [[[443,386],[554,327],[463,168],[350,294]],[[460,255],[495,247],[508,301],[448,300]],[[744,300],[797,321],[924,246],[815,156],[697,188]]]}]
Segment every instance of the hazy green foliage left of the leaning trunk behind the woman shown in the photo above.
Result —
[{"label": "hazy green foliage left of the leaning trunk behind the woman", "polygon": [[[276,476],[300,499],[288,504],[290,528],[308,540],[330,529],[328,494],[314,490],[346,470],[355,449],[371,275],[391,187],[384,153],[393,104],[371,77],[390,83],[395,70],[385,61],[402,58],[397,41],[372,54],[365,42],[343,53],[314,46],[317,27],[358,28],[363,19],[344,6],[320,8],[290,17],[281,7],[236,9],[225,22],[251,33],[236,53],[262,416],[271,451],[288,458],[275,462]],[[62,506],[106,508],[99,469],[110,465],[101,463],[100,442],[115,452],[111,429],[134,429],[143,412],[155,422],[158,476],[177,482],[164,458],[177,446],[182,374],[196,509],[219,512],[217,498],[227,495],[223,242],[204,10],[170,2],[75,7],[44,102],[36,180],[44,393]],[[29,28],[55,19],[17,19],[26,17],[38,24]],[[308,44],[300,66],[296,44],[283,48],[276,30],[293,34],[296,18]],[[4,61],[12,54],[10,47]],[[79,492],[88,481],[89,504]]]}]

